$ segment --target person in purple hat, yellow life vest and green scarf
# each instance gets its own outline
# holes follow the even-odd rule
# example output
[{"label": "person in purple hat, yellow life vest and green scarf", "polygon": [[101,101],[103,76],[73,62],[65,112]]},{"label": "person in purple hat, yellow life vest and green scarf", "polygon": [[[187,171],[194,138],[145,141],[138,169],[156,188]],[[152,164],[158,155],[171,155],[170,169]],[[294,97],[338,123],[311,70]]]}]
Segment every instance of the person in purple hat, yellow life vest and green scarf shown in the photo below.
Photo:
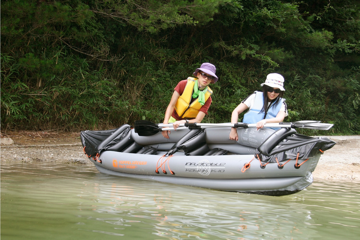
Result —
[{"label": "person in purple hat, yellow life vest and green scarf", "polygon": [[[211,63],[203,63],[188,77],[175,87],[169,105],[166,108],[164,124],[173,123],[174,128],[181,123],[200,123],[207,114],[211,104],[212,90],[208,85],[217,81],[216,67]],[[169,138],[170,131],[162,131]]]}]

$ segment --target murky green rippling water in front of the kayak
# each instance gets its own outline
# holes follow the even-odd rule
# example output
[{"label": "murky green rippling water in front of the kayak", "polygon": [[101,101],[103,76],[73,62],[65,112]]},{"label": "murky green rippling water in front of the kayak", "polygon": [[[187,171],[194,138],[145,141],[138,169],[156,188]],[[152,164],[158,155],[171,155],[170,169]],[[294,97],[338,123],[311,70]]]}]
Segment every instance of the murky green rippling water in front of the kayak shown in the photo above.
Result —
[{"label": "murky green rippling water in front of the kayak", "polygon": [[360,182],[273,197],[109,176],[93,166],[1,165],[1,240],[359,239]]}]

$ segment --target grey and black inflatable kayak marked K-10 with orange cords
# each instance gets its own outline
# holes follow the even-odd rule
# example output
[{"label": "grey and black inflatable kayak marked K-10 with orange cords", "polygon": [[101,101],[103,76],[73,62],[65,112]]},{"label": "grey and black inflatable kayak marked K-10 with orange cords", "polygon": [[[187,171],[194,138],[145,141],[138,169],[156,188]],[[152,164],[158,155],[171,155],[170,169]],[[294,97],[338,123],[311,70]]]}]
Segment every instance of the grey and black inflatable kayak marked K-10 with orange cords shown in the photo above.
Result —
[{"label": "grey and black inflatable kayak marked K-10 with orange cords", "polygon": [[178,128],[170,139],[162,136],[162,127],[128,124],[80,136],[84,153],[102,173],[273,196],[309,186],[320,155],[336,144],[292,127],[240,127],[235,141],[229,139],[230,127],[213,125]]}]

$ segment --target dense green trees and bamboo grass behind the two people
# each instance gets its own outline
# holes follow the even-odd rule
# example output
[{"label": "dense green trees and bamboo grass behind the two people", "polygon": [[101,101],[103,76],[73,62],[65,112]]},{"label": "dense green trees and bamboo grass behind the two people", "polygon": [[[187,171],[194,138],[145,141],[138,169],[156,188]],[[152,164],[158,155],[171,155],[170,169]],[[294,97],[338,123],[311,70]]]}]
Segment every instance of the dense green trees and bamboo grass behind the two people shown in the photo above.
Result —
[{"label": "dense green trees and bamboo grass behind the two people", "polygon": [[229,122],[278,72],[285,121],[360,133],[356,0],[8,0],[0,10],[1,128],[161,122],[176,84],[211,62],[219,81],[204,122]]}]

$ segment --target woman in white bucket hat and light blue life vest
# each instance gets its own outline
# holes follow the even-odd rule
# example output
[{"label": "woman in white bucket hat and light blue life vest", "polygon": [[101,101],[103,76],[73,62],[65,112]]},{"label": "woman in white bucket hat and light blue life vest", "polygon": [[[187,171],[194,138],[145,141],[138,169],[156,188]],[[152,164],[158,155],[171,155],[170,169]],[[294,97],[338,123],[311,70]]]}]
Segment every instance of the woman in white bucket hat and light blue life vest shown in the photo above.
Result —
[{"label": "woman in white bucket hat and light blue life vest", "polygon": [[[262,92],[255,91],[233,110],[231,123],[237,123],[239,114],[246,109],[249,110],[244,114],[243,122],[256,123],[257,130],[263,128],[265,123],[282,122],[288,116],[287,105],[283,98],[284,77],[279,73],[270,73],[261,86]],[[238,141],[236,128],[231,128],[229,139]]]}]

